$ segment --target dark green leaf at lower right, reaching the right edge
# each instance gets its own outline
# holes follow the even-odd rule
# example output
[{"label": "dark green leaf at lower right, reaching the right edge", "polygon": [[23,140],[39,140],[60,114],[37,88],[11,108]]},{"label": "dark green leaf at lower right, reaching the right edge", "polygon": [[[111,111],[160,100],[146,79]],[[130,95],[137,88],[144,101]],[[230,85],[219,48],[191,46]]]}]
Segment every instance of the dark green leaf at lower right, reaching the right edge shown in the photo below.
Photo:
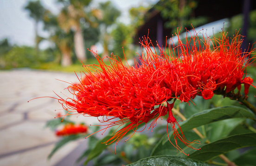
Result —
[{"label": "dark green leaf at lower right, reaching the right edge", "polygon": [[230,150],[249,146],[256,146],[256,133],[238,134],[209,143],[190,154],[189,158],[206,161]]}]

